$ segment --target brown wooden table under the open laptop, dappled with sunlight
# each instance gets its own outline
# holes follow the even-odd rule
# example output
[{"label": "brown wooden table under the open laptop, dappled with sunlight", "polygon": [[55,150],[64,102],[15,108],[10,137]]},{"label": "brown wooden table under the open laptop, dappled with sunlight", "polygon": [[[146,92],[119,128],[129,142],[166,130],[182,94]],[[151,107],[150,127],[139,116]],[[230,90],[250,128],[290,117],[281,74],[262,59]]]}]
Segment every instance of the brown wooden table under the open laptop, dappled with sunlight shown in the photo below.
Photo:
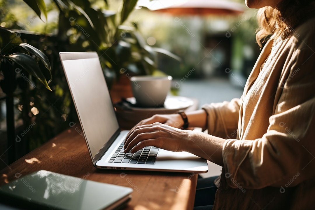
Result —
[{"label": "brown wooden table under the open laptop, dappled with sunlight", "polygon": [[[77,124],[78,125],[78,124]],[[192,209],[195,173],[137,172],[93,167],[88,148],[74,126],[0,171],[0,185],[38,170],[48,170],[134,189],[126,209]]]}]

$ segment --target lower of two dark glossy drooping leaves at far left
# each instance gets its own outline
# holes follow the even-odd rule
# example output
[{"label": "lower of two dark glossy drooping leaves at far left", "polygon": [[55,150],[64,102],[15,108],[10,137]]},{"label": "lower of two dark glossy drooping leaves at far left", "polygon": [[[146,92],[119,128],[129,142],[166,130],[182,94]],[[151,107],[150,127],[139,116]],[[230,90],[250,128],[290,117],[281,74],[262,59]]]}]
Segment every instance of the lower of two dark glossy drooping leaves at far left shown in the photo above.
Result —
[{"label": "lower of two dark glossy drooping leaves at far left", "polygon": [[37,61],[28,54],[24,53],[13,53],[11,55],[3,56],[16,64],[20,65],[23,69],[25,69],[32,76],[36,77],[40,82],[42,82],[47,89],[51,91],[44,77],[42,71],[39,69]]}]

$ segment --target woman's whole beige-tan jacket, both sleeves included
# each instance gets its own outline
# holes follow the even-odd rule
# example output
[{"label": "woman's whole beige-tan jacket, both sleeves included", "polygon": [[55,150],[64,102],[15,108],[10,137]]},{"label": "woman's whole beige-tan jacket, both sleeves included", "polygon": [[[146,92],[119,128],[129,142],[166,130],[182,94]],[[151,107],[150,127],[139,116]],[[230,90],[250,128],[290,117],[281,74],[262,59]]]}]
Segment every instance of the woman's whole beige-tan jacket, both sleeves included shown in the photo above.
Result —
[{"label": "woman's whole beige-tan jacket, both sleeves included", "polygon": [[228,139],[215,210],[315,209],[315,18],[293,32],[266,43],[241,99],[203,106]]}]

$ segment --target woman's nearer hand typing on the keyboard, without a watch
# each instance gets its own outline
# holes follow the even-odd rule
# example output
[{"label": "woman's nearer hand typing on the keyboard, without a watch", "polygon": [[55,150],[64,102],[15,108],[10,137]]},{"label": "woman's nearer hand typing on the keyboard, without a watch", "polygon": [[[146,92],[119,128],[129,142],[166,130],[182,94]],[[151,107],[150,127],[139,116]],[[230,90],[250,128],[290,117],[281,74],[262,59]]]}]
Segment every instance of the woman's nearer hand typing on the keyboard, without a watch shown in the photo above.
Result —
[{"label": "woman's nearer hand typing on the keyboard, without a watch", "polygon": [[[167,118],[161,117],[160,119],[162,119],[162,122],[167,121]],[[171,121],[171,123],[173,122]],[[155,146],[176,152],[184,151],[183,147],[189,140],[189,132],[160,122],[139,125],[128,133],[124,142],[125,153],[128,153],[130,150],[134,153],[146,146]]]}]

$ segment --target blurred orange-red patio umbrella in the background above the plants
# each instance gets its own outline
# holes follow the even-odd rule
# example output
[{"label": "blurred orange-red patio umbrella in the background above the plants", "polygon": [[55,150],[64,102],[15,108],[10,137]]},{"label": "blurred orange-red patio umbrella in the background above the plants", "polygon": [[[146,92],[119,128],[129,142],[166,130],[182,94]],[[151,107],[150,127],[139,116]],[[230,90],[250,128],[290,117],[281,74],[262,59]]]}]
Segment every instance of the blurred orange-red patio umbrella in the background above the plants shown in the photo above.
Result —
[{"label": "blurred orange-red patio umbrella in the background above the plants", "polygon": [[228,0],[139,0],[137,7],[173,15],[241,14],[245,6]]}]

